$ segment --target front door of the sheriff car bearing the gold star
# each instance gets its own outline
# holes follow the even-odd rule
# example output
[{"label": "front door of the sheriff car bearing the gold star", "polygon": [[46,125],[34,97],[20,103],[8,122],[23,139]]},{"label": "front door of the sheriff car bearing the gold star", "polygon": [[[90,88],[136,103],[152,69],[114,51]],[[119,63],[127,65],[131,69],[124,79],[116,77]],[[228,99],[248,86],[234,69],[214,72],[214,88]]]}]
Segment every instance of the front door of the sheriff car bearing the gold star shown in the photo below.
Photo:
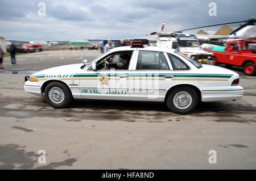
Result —
[{"label": "front door of the sheriff car bearing the gold star", "polygon": [[97,70],[88,68],[85,77],[80,78],[80,92],[84,99],[130,100],[127,69],[105,69],[105,61],[112,65],[122,65],[121,55],[129,54],[133,60],[133,50],[113,52],[97,61]]}]

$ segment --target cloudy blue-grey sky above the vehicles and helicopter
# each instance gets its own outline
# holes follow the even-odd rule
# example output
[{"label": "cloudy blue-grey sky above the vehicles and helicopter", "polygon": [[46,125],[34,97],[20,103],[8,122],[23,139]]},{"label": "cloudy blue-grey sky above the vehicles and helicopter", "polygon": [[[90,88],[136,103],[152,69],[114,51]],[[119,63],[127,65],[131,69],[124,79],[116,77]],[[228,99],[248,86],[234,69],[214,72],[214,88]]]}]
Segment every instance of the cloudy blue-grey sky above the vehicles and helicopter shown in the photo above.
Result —
[{"label": "cloudy blue-grey sky above the vehicles and helicopter", "polygon": [[[38,16],[39,2],[46,3],[46,16]],[[217,4],[217,16],[208,15],[209,2]],[[166,32],[247,20],[256,14],[255,7],[255,0],[0,1],[0,36],[27,41],[126,39],[159,31],[164,20]]]}]

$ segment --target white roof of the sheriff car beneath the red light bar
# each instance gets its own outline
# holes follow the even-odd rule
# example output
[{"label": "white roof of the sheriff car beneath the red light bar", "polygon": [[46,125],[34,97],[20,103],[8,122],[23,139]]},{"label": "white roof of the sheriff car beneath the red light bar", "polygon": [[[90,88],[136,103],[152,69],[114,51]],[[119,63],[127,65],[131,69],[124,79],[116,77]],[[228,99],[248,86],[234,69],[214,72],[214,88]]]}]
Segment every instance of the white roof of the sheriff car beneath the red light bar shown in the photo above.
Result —
[{"label": "white roof of the sheriff car beneath the red light bar", "polygon": [[162,47],[154,47],[154,46],[144,46],[144,48],[131,48],[131,46],[117,47],[110,49],[110,52],[117,51],[125,51],[125,50],[151,50],[151,51],[159,51],[159,52],[169,52],[174,53],[175,49],[171,48],[162,48]]}]

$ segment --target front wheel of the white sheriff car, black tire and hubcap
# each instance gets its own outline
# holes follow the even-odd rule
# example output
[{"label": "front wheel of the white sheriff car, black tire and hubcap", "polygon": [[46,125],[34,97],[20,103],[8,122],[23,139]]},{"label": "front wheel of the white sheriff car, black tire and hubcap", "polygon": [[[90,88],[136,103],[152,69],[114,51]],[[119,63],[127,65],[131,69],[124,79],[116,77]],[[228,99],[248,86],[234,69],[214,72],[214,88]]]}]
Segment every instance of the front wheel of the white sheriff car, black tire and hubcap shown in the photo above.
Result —
[{"label": "front wheel of the white sheriff car, black tire and hubcap", "polygon": [[50,106],[58,109],[67,107],[73,99],[69,88],[61,82],[49,83],[44,90],[44,98]]}]

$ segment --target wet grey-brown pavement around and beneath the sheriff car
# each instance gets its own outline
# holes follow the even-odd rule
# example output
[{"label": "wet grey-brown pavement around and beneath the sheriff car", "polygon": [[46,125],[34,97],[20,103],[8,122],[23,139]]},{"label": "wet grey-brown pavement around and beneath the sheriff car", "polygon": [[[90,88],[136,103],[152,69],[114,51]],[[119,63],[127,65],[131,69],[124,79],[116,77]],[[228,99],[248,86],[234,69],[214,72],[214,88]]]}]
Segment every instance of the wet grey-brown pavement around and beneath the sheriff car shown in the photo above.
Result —
[{"label": "wet grey-brown pavement around and beneath the sheriff car", "polygon": [[[255,77],[242,76],[242,99],[200,103],[189,115],[162,103],[102,100],[56,110],[24,92],[24,76],[32,71],[99,54],[70,51],[17,56],[15,67],[5,62],[0,169],[256,169]],[[38,163],[39,150],[46,151],[46,163]],[[217,163],[208,162],[209,150],[216,150]]]}]

